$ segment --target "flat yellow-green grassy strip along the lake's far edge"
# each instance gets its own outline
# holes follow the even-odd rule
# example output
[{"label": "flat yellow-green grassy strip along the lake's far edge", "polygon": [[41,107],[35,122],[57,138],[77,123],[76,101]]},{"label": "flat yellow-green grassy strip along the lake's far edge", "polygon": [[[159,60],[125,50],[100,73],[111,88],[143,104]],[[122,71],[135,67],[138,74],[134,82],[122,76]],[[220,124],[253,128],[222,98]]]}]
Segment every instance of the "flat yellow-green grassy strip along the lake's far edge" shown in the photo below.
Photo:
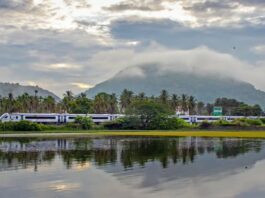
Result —
[{"label": "flat yellow-green grassy strip along the lake's far edge", "polygon": [[4,137],[87,137],[87,136],[150,136],[150,137],[239,137],[265,138],[265,131],[45,131],[3,132]]}]

